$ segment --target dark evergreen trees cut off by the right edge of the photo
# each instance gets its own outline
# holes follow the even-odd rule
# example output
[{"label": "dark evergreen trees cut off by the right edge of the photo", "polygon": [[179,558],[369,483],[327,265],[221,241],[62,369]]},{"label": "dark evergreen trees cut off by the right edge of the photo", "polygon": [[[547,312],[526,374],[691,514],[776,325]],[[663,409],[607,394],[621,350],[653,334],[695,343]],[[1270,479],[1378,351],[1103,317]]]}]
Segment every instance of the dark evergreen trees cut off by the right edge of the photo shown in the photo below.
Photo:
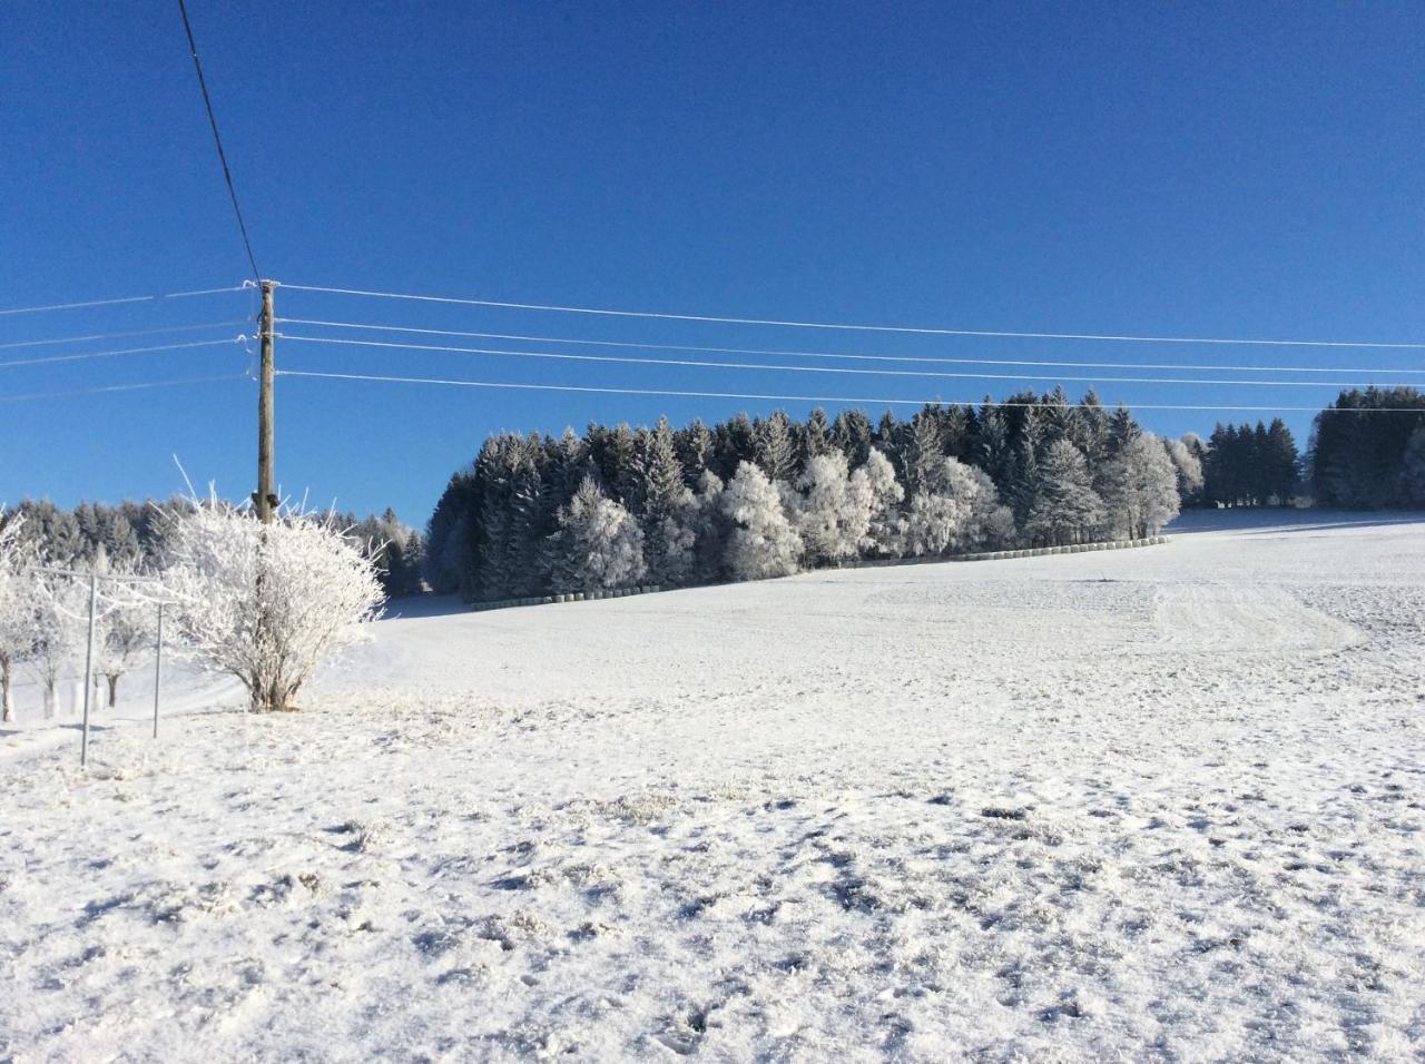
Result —
[{"label": "dark evergreen trees cut off by the right edge of the photo", "polygon": [[1414,387],[1342,392],[1317,414],[1308,464],[1322,506],[1425,506],[1425,393]]}]

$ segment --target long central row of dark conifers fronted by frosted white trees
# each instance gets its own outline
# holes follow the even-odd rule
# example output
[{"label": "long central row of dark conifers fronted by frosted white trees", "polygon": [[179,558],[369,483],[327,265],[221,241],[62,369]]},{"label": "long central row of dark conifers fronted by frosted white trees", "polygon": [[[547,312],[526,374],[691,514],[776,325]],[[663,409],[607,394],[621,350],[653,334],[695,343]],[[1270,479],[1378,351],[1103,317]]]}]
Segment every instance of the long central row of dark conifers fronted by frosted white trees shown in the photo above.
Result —
[{"label": "long central row of dark conifers fronted by frosted white trees", "polygon": [[502,433],[430,518],[437,591],[755,580],[855,557],[1143,536],[1200,493],[1198,452],[1089,393],[936,406],[909,420],[782,412],[707,426]]}]

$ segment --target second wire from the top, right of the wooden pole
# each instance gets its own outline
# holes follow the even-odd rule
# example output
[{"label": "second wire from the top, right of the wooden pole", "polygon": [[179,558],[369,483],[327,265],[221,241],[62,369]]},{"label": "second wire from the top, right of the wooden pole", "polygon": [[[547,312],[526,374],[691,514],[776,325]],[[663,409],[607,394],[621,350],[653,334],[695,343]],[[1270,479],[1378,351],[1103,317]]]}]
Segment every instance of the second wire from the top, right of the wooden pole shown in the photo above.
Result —
[{"label": "second wire from the top, right of the wooden pole", "polygon": [[589,340],[570,336],[527,336],[509,332],[467,332],[462,329],[418,329],[400,325],[368,325],[362,322],[328,322],[312,318],[279,318],[289,325],[315,325],[331,329],[365,329],[369,332],[399,332],[423,336],[465,336],[489,340],[526,340],[529,343],[579,343],[594,348],[637,348],[640,350],[694,350],[718,355],[775,355],[788,359],[841,359],[855,362],[913,362],[946,366],[1063,366],[1066,369],[1163,369],[1221,373],[1405,373],[1425,375],[1425,369],[1375,369],[1364,366],[1224,366],[1221,363],[1183,362],[1069,362],[1064,359],[960,359],[926,358],[916,355],[851,355],[824,350],[785,350],[779,348],[708,348],[685,343],[633,343],[627,340]]}]

